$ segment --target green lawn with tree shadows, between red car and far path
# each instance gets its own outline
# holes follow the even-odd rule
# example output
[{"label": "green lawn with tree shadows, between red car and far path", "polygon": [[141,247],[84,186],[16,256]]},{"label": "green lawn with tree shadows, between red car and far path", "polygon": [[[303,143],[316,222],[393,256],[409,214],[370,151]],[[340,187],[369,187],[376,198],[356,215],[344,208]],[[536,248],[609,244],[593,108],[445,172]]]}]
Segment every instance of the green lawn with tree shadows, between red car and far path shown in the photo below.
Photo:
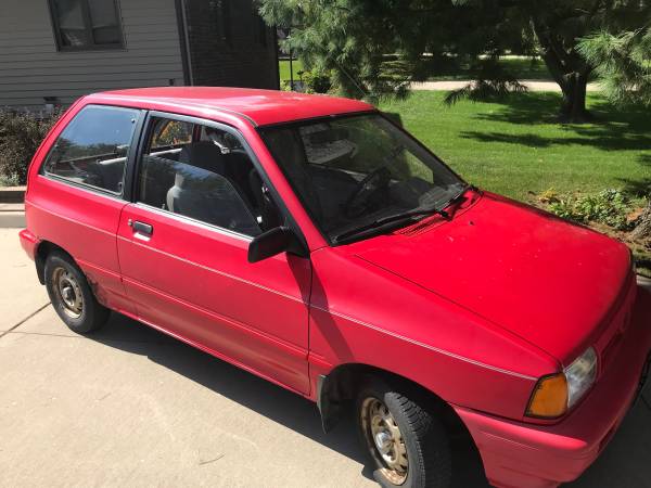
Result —
[{"label": "green lawn with tree shadows, between red car and far path", "polygon": [[651,114],[617,112],[589,97],[597,124],[557,121],[560,94],[531,92],[503,103],[443,105],[444,92],[414,92],[381,104],[468,181],[521,201],[608,188],[651,191]]}]

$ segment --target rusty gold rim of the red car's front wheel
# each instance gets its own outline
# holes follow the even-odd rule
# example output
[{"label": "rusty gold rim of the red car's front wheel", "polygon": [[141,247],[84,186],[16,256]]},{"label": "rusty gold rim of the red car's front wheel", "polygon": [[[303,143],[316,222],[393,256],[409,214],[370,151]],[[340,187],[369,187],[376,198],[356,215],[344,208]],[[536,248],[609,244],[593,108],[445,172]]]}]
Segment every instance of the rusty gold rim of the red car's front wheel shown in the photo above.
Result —
[{"label": "rusty gold rim of the red car's front wheel", "polygon": [[378,398],[361,403],[361,428],[367,447],[382,474],[394,485],[403,485],[409,472],[405,439],[388,408]]}]

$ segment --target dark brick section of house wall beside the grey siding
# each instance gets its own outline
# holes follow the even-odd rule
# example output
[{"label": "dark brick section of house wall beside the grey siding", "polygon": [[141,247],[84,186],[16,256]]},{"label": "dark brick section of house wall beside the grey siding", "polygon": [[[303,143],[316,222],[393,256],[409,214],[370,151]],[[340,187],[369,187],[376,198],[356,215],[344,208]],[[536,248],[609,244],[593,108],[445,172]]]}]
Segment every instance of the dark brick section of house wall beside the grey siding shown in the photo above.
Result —
[{"label": "dark brick section of house wall beside the grey siding", "polygon": [[[225,23],[219,5],[227,8]],[[261,31],[251,0],[184,0],[184,7],[193,85],[279,89],[275,30]]]}]

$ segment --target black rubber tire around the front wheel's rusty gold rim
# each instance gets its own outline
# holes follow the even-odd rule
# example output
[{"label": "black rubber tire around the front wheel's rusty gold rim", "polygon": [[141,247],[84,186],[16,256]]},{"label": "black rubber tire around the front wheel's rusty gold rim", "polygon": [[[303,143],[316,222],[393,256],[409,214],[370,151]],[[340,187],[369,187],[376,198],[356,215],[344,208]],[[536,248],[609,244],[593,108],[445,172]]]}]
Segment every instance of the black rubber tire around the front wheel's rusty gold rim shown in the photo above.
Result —
[{"label": "black rubber tire around the front wheel's rusty gold rim", "polygon": [[[448,488],[451,484],[448,434],[441,421],[416,397],[374,378],[367,381],[360,389],[356,402],[357,425],[363,449],[372,462],[373,477],[385,488]],[[401,473],[396,474],[382,459],[373,441],[370,422],[365,421],[363,411],[369,404],[367,401],[372,402],[370,399],[386,406],[399,428],[408,460],[403,479],[396,479]]]}]

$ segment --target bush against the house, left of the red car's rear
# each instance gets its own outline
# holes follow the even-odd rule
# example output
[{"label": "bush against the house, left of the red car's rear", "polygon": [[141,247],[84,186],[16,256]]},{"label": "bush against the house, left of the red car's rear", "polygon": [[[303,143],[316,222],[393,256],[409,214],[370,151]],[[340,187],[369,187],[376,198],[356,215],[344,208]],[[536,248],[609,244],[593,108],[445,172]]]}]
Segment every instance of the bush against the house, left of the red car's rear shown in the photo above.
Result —
[{"label": "bush against the house, left of the red car's rear", "polygon": [[60,116],[0,110],[0,185],[25,184],[31,156]]}]

